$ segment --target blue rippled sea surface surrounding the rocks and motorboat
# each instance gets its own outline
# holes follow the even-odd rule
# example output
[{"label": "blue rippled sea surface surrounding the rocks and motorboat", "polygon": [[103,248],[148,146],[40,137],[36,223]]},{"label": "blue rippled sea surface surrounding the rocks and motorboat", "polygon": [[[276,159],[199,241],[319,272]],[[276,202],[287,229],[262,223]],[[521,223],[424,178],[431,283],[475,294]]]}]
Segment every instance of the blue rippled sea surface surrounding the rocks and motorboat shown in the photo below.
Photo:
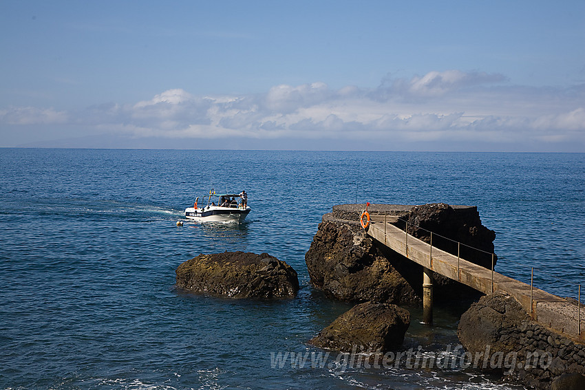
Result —
[{"label": "blue rippled sea surface surrounding the rocks and motorboat", "polygon": [[[350,305],[309,285],[304,254],[334,204],[478,206],[497,270],[554,294],[585,282],[585,155],[0,149],[2,389],[515,389],[474,369],[278,364]],[[248,192],[242,226],[185,222],[209,188]],[[299,273],[282,301],[182,294],[200,253],[268,252]],[[585,284],[585,283],[584,283]],[[582,299],[583,300],[583,299]],[[438,307],[405,347],[456,345]],[[330,360],[336,356],[332,355]]]}]

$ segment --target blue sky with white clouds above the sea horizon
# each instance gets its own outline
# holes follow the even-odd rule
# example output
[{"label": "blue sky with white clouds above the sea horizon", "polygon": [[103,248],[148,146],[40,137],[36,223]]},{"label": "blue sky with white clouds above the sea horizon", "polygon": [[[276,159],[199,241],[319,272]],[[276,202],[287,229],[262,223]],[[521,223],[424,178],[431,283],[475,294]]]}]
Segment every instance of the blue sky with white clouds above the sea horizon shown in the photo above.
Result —
[{"label": "blue sky with white clouds above the sea horizon", "polygon": [[0,2],[0,147],[585,151],[585,1]]}]

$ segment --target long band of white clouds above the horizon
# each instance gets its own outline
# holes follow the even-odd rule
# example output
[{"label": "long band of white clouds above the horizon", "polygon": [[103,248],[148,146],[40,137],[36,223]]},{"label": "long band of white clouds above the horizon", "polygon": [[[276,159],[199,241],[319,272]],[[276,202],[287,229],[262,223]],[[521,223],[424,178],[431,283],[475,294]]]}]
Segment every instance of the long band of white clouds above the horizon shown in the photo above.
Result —
[{"label": "long band of white clouds above the horizon", "polygon": [[[379,87],[331,89],[325,83],[277,85],[264,94],[197,96],[169,89],[134,104],[111,103],[81,111],[35,107],[0,109],[3,128],[89,129],[129,138],[168,140],[287,140],[339,145],[367,140],[378,150],[431,142],[585,146],[585,86],[511,86],[501,74],[429,72],[384,78]],[[394,147],[393,147],[394,146]],[[338,149],[332,147],[331,149]],[[416,148],[415,148],[416,149]],[[453,149],[457,149],[454,147]],[[562,148],[561,148],[562,149]],[[573,150],[575,151],[575,150]],[[578,150],[577,150],[578,151]]]}]

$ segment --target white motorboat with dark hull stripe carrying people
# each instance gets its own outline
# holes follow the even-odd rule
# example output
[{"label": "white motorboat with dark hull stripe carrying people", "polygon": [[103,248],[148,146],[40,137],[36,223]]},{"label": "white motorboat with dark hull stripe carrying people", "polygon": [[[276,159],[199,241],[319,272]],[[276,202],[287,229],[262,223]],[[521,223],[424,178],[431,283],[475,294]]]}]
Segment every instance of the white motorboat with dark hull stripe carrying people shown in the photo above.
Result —
[{"label": "white motorboat with dark hull stripe carrying people", "polygon": [[239,194],[216,194],[211,189],[201,202],[197,197],[193,207],[185,208],[185,218],[200,222],[240,223],[250,211],[246,191]]}]

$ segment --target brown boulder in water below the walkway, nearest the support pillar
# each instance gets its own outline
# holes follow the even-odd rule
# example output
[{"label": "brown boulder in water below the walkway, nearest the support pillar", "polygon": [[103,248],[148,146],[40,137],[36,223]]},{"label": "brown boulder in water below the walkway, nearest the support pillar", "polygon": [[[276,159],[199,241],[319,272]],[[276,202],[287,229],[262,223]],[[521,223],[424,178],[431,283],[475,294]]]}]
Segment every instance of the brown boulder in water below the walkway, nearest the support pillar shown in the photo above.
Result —
[{"label": "brown boulder in water below the walkway, nearest the support pillar", "polygon": [[402,345],[409,325],[407,310],[365,302],[341,314],[309,343],[336,351],[390,351]]}]

